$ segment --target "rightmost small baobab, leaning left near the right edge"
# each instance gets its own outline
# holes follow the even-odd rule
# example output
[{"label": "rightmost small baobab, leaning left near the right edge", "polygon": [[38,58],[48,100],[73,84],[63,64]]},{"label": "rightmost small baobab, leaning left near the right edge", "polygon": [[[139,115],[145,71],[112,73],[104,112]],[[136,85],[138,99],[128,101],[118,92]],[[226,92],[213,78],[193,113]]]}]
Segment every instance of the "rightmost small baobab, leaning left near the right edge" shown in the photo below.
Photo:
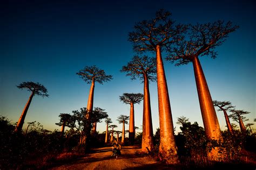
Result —
[{"label": "rightmost small baobab, leaning left near the right edge", "polygon": [[245,116],[242,115],[246,115],[246,114],[250,114],[250,112],[248,111],[244,111],[244,110],[231,110],[232,114],[229,116],[233,119],[233,121],[238,122],[241,132],[246,133],[246,128],[245,128],[245,121],[248,121],[249,119],[246,119]]}]

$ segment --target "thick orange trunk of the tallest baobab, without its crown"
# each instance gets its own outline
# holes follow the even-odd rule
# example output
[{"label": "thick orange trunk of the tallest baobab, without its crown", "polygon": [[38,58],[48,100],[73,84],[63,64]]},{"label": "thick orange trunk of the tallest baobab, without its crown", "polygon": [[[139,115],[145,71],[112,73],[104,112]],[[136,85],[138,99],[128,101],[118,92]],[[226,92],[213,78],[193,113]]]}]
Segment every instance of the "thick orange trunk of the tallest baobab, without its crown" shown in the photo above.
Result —
[{"label": "thick orange trunk of the tallest baobab, without its crown", "polygon": [[171,113],[169,93],[165,78],[160,46],[156,46],[157,53],[157,90],[160,125],[159,155],[167,164],[178,164],[177,146],[174,138],[174,129]]}]

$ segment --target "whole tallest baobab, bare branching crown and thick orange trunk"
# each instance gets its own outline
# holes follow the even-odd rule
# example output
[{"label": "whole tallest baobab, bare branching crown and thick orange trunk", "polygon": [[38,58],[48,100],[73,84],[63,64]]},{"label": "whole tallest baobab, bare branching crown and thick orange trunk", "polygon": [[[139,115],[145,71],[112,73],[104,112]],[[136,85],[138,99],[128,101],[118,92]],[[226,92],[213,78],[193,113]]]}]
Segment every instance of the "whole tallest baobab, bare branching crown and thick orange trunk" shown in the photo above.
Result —
[{"label": "whole tallest baobab, bare branching crown and thick orange trunk", "polygon": [[138,22],[134,26],[134,31],[129,33],[129,40],[133,43],[133,49],[136,52],[156,52],[160,125],[159,155],[167,164],[177,164],[179,161],[174,139],[171,105],[161,53],[169,52],[172,44],[183,38],[186,26],[175,24],[170,16],[170,12],[159,10],[156,12],[156,17],[151,20]]}]

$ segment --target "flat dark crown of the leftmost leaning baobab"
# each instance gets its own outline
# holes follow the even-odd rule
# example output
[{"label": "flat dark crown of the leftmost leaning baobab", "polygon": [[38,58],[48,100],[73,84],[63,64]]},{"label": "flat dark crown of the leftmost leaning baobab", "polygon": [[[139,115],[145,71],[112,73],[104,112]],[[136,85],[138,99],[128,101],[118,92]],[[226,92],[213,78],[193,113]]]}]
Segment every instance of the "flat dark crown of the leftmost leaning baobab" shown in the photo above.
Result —
[{"label": "flat dark crown of the leftmost leaning baobab", "polygon": [[42,96],[42,97],[48,97],[49,95],[48,90],[40,83],[34,83],[32,81],[30,82],[22,82],[17,86],[19,89],[27,89],[28,91],[33,91],[35,95]]}]

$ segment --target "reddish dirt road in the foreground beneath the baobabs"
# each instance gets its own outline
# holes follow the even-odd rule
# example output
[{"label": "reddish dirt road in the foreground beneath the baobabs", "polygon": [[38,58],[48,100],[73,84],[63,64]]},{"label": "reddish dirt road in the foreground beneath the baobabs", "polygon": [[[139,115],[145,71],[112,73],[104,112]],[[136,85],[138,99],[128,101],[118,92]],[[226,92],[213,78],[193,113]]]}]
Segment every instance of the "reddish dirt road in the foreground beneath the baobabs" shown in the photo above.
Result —
[{"label": "reddish dirt road in the foreground beneath the baobabs", "polygon": [[54,167],[52,169],[165,169],[151,157],[139,154],[140,148],[124,146],[122,155],[111,157],[111,147],[97,148],[94,153],[87,154],[72,164]]}]

